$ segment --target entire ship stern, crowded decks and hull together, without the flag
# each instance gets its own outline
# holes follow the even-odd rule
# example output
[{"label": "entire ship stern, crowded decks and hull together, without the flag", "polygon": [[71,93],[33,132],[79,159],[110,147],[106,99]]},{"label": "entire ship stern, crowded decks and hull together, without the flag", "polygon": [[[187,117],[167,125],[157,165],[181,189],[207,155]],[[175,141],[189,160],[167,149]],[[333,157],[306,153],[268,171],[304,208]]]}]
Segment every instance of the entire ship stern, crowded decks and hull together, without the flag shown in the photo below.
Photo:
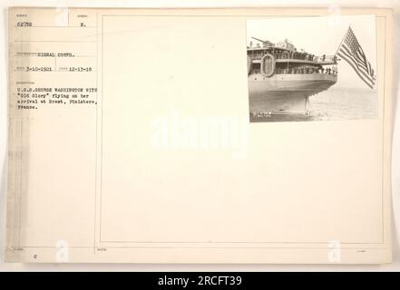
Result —
[{"label": "entire ship stern, crowded decks and hull together, without the flag", "polygon": [[[337,56],[314,55],[285,40],[248,46],[250,114],[307,113],[308,97],[337,82]],[[257,102],[257,110],[251,102]]]}]

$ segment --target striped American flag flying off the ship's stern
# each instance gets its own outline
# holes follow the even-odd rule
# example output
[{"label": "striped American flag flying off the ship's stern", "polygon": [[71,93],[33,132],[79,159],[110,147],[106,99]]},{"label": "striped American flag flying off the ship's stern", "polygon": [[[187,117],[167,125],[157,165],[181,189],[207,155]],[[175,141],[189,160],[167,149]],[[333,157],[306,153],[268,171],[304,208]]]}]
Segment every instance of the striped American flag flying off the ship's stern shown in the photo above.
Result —
[{"label": "striped American flag flying off the ship's stern", "polygon": [[358,43],[356,35],[353,33],[351,27],[348,27],[344,41],[337,51],[337,55],[350,64],[361,80],[366,82],[371,89],[374,89],[376,82],[374,69],[371,63],[366,60],[366,53],[364,53],[360,43]]}]

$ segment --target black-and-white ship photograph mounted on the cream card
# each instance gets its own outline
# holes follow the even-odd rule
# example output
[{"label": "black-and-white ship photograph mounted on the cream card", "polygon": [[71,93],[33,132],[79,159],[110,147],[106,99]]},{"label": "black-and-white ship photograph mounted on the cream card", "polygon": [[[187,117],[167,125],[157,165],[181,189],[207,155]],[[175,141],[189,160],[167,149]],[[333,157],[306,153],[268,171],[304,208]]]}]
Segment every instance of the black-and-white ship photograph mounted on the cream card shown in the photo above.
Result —
[{"label": "black-and-white ship photograph mounted on the cream card", "polygon": [[376,119],[375,15],[247,21],[250,122]]}]

